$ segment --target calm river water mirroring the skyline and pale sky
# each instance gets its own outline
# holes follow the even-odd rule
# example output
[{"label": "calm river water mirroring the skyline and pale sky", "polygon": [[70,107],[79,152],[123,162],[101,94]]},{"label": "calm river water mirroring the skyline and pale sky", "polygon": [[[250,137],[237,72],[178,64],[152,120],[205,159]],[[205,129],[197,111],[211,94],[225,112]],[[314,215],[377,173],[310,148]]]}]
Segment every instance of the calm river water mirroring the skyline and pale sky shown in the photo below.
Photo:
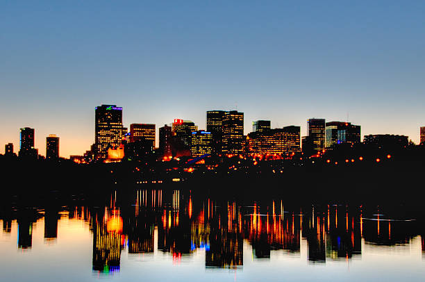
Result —
[{"label": "calm river water mirroring the skyline and pale sky", "polygon": [[[408,206],[135,190],[2,207],[1,281],[424,281]],[[31,201],[29,201],[31,203]]]}]

